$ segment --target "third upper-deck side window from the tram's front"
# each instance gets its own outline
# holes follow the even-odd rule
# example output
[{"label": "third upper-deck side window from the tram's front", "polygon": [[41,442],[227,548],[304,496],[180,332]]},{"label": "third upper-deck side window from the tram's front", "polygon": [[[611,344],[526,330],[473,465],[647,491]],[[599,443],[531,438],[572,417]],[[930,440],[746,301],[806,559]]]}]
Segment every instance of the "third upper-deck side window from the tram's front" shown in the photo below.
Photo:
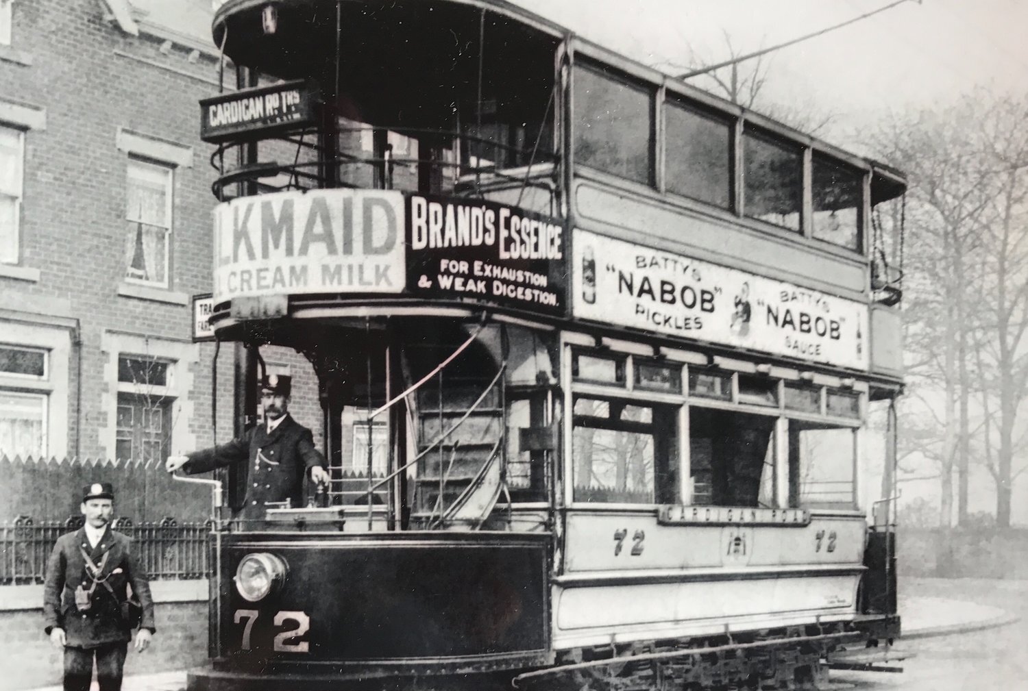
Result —
[{"label": "third upper-deck side window from the tram's front", "polygon": [[747,217],[800,230],[803,152],[770,137],[743,132],[743,208]]}]

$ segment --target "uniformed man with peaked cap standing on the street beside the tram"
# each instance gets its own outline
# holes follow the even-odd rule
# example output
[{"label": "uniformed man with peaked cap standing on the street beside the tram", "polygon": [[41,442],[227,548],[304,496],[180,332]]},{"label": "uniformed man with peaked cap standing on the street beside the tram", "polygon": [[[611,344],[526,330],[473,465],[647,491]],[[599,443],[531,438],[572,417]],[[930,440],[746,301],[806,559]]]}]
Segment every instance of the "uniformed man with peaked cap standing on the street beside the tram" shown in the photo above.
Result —
[{"label": "uniformed man with peaked cap standing on the street beside the tram", "polygon": [[[119,691],[132,629],[140,627],[139,652],[147,649],[156,630],[150,584],[132,539],[110,528],[112,487],[86,485],[81,510],[85,525],[61,536],[46,564],[44,630],[64,649],[65,691],[89,688],[94,658],[100,691]],[[130,603],[128,586],[137,603]]]}]

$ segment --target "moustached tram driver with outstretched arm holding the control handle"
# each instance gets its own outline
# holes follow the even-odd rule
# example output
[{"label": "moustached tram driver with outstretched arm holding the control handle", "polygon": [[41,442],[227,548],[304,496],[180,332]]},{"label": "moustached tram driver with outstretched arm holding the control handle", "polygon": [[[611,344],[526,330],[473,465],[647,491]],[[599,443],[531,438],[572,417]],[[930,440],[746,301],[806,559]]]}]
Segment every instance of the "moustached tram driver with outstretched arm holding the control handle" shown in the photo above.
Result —
[{"label": "moustached tram driver with outstretched arm holding the control handle", "polygon": [[247,497],[237,519],[263,519],[268,502],[289,501],[294,507],[301,506],[304,478],[309,476],[315,483],[327,484],[329,474],[310,430],[289,415],[291,388],[289,377],[268,375],[261,386],[264,424],[228,444],[186,456],[171,456],[164,467],[169,472],[182,468],[194,474],[249,461]]}]

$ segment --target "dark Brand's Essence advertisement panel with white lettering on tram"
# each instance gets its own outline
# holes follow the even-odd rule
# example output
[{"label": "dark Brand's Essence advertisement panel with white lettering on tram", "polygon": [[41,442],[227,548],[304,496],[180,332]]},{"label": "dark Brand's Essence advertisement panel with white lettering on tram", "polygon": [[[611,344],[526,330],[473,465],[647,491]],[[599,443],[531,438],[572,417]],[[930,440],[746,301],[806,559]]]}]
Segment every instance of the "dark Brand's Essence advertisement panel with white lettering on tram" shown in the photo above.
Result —
[{"label": "dark Brand's Essence advertisement panel with white lettering on tram", "polygon": [[561,316],[563,224],[480,199],[407,197],[407,290],[415,296]]}]

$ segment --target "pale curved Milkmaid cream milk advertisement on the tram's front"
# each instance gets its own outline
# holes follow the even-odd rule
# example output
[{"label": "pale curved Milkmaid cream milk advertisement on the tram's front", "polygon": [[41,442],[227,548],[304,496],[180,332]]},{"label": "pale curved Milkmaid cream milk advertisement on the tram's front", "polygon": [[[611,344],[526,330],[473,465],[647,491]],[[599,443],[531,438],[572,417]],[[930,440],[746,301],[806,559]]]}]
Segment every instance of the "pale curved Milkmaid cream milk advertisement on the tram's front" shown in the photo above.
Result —
[{"label": "pale curved Milkmaid cream milk advertisement on the tram's front", "polygon": [[309,190],[237,197],[214,209],[214,304],[269,295],[399,294],[403,194]]}]

